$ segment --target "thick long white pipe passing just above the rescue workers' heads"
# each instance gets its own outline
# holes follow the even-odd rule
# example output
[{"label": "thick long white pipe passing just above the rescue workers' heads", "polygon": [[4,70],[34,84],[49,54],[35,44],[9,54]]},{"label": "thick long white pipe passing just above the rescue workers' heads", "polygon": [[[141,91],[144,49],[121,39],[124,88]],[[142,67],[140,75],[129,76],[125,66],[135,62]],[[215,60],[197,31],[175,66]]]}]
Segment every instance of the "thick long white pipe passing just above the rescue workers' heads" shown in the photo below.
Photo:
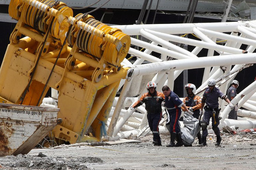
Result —
[{"label": "thick long white pipe passing just above the rescue workers' heads", "polygon": [[234,54],[214,57],[200,57],[193,59],[178,59],[165,62],[154,62],[149,64],[142,64],[134,66],[134,75],[153,74],[158,72],[166,72],[168,70],[181,70],[204,68],[211,66],[220,66],[225,63],[226,65],[234,64],[250,64],[256,62],[256,56],[253,53],[247,54]]}]

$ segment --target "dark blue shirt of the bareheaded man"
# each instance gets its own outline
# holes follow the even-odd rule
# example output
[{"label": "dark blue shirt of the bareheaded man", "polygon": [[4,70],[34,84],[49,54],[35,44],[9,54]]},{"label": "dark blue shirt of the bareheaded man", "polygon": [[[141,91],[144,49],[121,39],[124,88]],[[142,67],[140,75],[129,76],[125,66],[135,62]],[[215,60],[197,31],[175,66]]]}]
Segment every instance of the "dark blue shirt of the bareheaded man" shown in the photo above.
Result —
[{"label": "dark blue shirt of the bareheaded man", "polygon": [[174,108],[180,107],[183,105],[183,102],[180,100],[180,98],[178,97],[178,95],[176,95],[173,91],[170,92],[169,96],[165,96],[165,106],[168,109],[168,112]]}]

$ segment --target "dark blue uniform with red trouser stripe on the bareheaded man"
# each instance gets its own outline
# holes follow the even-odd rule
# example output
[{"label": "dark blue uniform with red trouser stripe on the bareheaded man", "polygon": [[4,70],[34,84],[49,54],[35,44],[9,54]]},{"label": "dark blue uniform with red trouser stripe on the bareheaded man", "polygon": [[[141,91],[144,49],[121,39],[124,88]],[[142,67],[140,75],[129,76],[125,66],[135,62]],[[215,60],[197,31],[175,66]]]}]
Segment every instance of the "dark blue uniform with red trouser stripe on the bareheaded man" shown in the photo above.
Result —
[{"label": "dark blue uniform with red trouser stripe on the bareheaded man", "polygon": [[180,126],[178,124],[178,120],[180,119],[181,115],[181,106],[184,103],[172,91],[169,96],[165,96],[164,102],[170,117],[170,133],[180,133]]}]

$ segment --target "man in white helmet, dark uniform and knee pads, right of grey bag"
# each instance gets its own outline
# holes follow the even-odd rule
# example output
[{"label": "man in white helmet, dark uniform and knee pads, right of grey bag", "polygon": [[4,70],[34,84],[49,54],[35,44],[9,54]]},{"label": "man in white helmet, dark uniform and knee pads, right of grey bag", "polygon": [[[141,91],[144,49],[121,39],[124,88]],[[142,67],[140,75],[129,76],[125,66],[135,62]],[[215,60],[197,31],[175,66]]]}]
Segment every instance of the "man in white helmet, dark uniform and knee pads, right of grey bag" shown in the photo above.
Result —
[{"label": "man in white helmet, dark uniform and knee pads, right of grey bag", "polygon": [[[208,88],[206,88],[203,94],[202,107],[200,111],[200,115],[203,115],[203,108],[204,108],[204,116],[203,116],[203,120],[201,121],[201,127],[203,131],[203,135],[202,135],[203,142],[201,146],[207,146],[207,143],[206,143],[206,137],[208,135],[207,126],[209,125],[210,118],[211,118],[212,129],[217,136],[215,145],[219,146],[221,143],[220,129],[218,128],[218,125],[220,124],[219,98],[224,99],[227,103],[229,103],[229,106],[231,109],[234,108],[233,104],[230,103],[229,99],[220,91],[219,88],[215,87],[215,85],[216,85],[216,80],[210,79],[208,81]],[[204,107],[205,103],[206,103],[206,106]]]}]

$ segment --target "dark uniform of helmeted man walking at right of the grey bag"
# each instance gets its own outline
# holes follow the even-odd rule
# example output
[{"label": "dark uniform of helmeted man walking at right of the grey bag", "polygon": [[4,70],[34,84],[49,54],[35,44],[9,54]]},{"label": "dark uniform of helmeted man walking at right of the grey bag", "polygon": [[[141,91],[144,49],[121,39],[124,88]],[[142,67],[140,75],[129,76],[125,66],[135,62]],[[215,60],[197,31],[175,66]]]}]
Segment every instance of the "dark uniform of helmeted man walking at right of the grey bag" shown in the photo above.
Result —
[{"label": "dark uniform of helmeted man walking at right of the grey bag", "polygon": [[[204,91],[203,97],[206,98],[206,105],[204,107],[204,116],[202,122],[207,123],[209,125],[210,118],[211,118],[211,126],[214,130],[214,133],[219,136],[220,135],[220,129],[218,128],[218,125],[220,124],[219,120],[219,98],[223,98],[225,96],[219,88],[214,87],[213,91],[211,92],[209,88],[206,88]],[[215,111],[216,113],[213,113]],[[206,137],[208,135],[207,129],[203,130],[203,137]]]}]

